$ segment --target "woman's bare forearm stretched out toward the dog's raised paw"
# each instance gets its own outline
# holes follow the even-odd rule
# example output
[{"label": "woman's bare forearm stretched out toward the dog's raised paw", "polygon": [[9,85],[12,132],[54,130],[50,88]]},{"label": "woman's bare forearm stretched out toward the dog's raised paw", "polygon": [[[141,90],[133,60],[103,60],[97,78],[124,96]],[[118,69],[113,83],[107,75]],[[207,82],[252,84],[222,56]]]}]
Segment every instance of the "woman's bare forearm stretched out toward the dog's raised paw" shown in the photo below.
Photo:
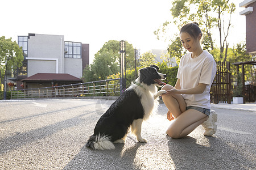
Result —
[{"label": "woman's bare forearm stretched out toward the dog's raised paw", "polygon": [[[195,95],[195,94],[201,94],[204,92],[207,84],[199,83],[198,86],[187,88],[187,89],[180,89],[179,84],[177,84],[179,79],[176,82],[175,88],[171,90],[167,90],[166,94],[163,95],[170,95],[170,94],[186,94],[186,95]],[[176,88],[177,87],[177,88]]]}]

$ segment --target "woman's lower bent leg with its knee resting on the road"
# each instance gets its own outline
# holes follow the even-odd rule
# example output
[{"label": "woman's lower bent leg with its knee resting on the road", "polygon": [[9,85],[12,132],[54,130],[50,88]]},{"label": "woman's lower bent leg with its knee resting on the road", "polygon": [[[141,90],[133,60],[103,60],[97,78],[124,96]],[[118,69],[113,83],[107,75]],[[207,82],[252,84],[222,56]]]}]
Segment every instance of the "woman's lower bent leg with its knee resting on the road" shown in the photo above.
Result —
[{"label": "woman's lower bent leg with its knee resting on the road", "polygon": [[169,126],[166,133],[172,138],[182,138],[191,133],[197,126],[203,124],[208,116],[195,109],[188,109],[180,114]]}]

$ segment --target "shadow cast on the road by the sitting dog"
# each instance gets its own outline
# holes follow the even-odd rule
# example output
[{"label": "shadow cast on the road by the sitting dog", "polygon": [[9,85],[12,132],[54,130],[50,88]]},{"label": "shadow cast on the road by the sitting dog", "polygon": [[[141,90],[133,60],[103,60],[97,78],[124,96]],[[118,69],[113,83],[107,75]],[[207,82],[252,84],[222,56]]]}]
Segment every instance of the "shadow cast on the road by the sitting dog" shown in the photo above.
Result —
[{"label": "shadow cast on the road by the sitting dog", "polygon": [[[126,142],[135,142],[127,137]],[[115,144],[115,150],[91,150],[84,145],[63,169],[140,169],[134,159],[137,150],[145,143],[134,143],[132,147],[125,144]]]}]

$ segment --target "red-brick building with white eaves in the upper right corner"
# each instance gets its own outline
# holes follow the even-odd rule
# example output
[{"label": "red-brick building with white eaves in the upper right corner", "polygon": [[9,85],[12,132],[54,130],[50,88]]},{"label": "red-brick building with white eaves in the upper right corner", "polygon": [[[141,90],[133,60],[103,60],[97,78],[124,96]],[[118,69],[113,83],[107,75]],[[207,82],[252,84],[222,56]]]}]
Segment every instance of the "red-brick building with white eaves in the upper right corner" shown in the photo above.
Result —
[{"label": "red-brick building with white eaves in the upper right corner", "polygon": [[246,52],[256,54],[256,0],[245,0],[239,6],[245,7],[240,15],[246,17]]}]

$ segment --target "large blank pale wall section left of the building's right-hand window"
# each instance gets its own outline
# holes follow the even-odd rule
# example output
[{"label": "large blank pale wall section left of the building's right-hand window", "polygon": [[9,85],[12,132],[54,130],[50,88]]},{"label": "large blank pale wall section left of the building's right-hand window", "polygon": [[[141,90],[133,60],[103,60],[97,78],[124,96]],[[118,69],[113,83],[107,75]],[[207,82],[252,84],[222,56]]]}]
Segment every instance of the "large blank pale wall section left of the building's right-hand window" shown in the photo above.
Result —
[{"label": "large blank pale wall section left of the building's right-hand window", "polygon": [[28,39],[28,76],[64,72],[64,36],[35,34]]}]

